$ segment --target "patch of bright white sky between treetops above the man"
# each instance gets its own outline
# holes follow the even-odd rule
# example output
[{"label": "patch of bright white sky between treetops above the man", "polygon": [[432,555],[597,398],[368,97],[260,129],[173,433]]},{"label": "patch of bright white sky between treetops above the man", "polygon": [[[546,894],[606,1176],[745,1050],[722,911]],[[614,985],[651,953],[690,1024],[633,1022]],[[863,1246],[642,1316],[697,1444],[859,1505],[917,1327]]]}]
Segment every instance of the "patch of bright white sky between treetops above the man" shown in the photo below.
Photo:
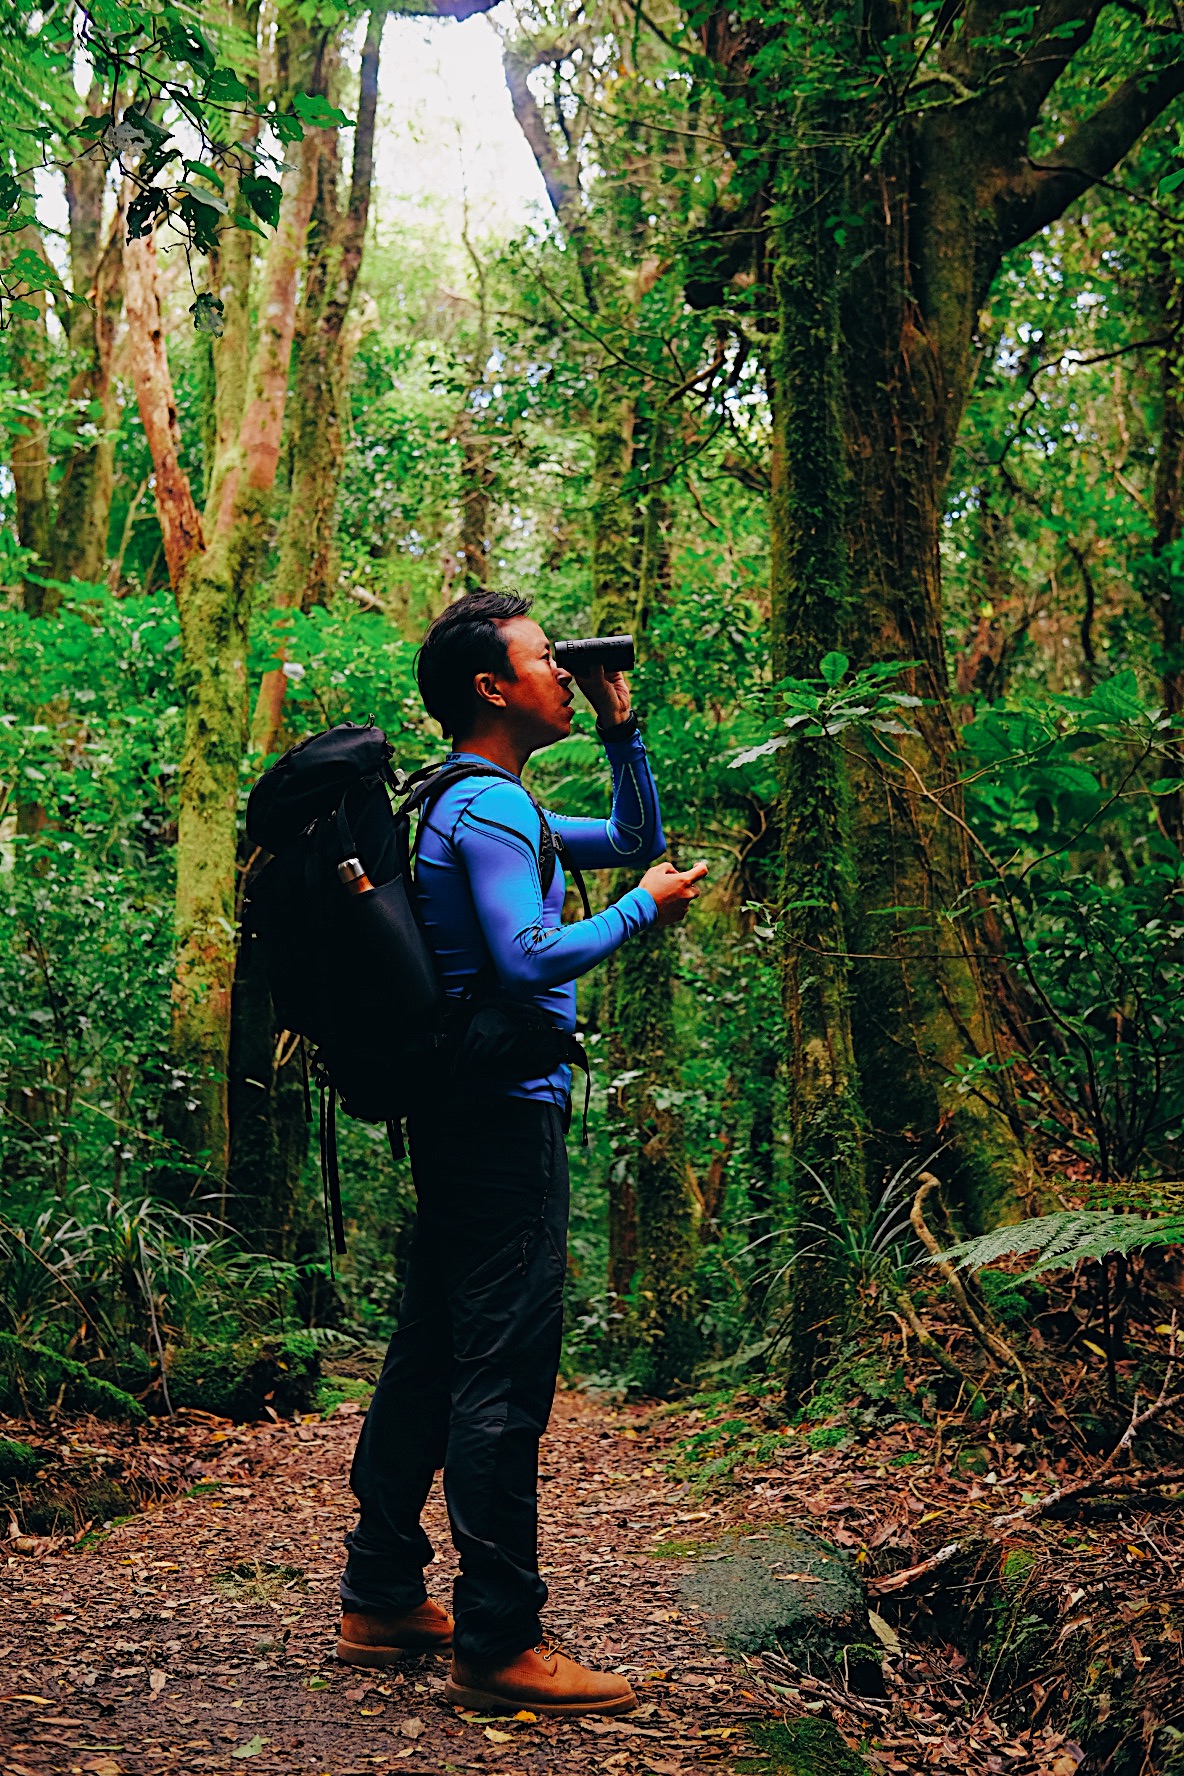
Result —
[{"label": "patch of bright white sky between treetops above the man", "polygon": [[[534,156],[515,121],[501,41],[488,18],[391,18],[382,43],[375,206],[444,210],[460,236],[465,195],[476,236],[549,213]],[[403,211],[403,215],[399,213]]]}]

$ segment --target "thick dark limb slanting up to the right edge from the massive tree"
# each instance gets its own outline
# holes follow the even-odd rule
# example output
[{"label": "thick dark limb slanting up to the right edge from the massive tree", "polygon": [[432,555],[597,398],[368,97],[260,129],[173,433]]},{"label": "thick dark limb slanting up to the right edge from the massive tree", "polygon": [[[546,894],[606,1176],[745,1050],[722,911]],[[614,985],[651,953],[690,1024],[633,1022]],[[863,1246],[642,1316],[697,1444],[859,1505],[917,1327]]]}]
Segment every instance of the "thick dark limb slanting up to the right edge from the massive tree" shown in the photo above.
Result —
[{"label": "thick dark limb slanting up to the right edge from the massive tree", "polygon": [[1154,119],[1184,92],[1184,60],[1124,80],[1065,139],[1056,160],[1028,160],[996,199],[1003,250],[1056,222],[1074,199],[1118,165]]}]

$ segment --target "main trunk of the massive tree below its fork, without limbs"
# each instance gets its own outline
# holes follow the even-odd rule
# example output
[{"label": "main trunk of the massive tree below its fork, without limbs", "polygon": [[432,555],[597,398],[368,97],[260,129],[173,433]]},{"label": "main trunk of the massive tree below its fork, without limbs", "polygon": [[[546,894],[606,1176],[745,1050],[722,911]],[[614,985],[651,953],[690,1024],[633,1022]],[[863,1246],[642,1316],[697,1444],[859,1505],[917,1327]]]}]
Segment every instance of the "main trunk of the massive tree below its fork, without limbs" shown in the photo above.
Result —
[{"label": "main trunk of the massive tree below its fork, without limbs", "polygon": [[864,757],[852,773],[857,918],[849,938],[870,1185],[879,1193],[896,1167],[950,1144],[943,1181],[982,1227],[1015,1204],[1030,1163],[1006,1073],[994,1069],[987,1094],[957,1089],[967,1062],[1003,1058],[985,970],[1006,973],[1003,957],[989,955],[985,902],[971,886],[983,860],[960,794],[946,789],[959,767],[939,533],[985,297],[973,156],[959,165],[957,146],[916,153],[900,137],[864,176],[861,256],[841,286],[849,572],[861,593],[845,636],[861,666],[918,662],[905,689],[925,700],[914,712],[920,739],[895,741],[904,769]]}]

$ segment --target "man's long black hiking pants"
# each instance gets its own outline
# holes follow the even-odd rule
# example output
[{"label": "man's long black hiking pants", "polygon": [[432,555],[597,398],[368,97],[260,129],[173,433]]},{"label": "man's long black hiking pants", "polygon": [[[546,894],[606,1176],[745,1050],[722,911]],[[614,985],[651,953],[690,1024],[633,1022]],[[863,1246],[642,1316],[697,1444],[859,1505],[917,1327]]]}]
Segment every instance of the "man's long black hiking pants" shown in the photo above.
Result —
[{"label": "man's long black hiking pants", "polygon": [[426,1597],[419,1513],[444,1467],[456,1652],[502,1664],[541,1636],[538,1440],[559,1369],[568,1234],[566,1117],[525,1098],[469,1099],[408,1126],[417,1217],[399,1325],[350,1485],[346,1609]]}]

